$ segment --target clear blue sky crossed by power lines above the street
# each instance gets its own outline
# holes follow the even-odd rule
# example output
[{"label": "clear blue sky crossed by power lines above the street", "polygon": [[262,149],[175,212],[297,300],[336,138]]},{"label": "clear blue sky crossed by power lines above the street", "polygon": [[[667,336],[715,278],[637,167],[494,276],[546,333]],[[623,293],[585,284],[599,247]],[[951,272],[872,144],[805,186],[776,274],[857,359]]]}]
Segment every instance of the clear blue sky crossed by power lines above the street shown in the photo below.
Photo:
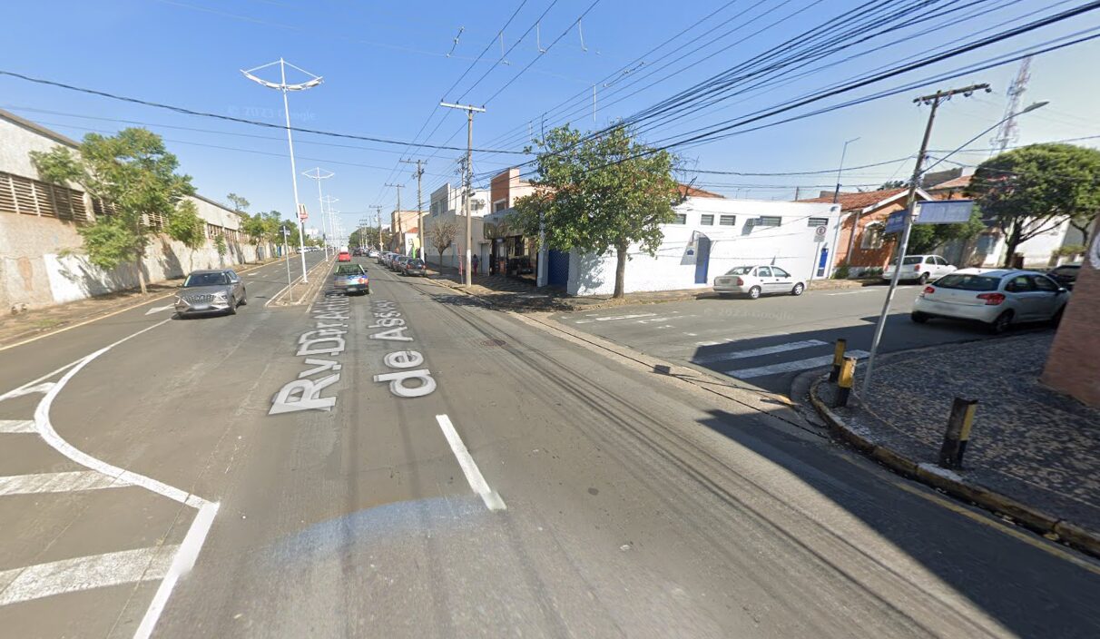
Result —
[{"label": "clear blue sky crossed by power lines above the street", "polygon": [[[464,114],[436,109],[442,98],[486,106],[487,112],[475,119],[475,147],[515,151],[522,148],[529,131],[537,132],[546,111],[551,113],[547,117],[548,125],[565,121],[565,117],[582,129],[605,125],[791,38],[782,47],[796,46],[800,34],[806,30],[860,4],[846,0],[681,3],[598,0],[593,5],[593,0],[528,0],[502,32],[521,1],[21,2],[6,9],[8,23],[35,26],[7,30],[0,41],[0,59],[4,60],[0,69],[277,124],[283,118],[278,92],[250,82],[239,69],[283,56],[324,78],[317,88],[290,95],[292,119],[297,126],[462,146]],[[976,37],[998,23],[1014,25],[1080,3],[932,2],[925,11],[953,4],[959,11],[920,26],[891,30],[877,38],[848,38],[856,41],[849,51],[816,64],[871,47],[882,48],[820,70],[814,64],[800,67],[799,71],[805,71],[803,77],[789,84],[770,87],[768,91],[730,96],[710,110],[691,114],[694,120],[669,122],[646,130],[642,135],[651,142],[663,140],[689,129],[781,104],[869,69]],[[712,18],[669,45],[644,55],[715,11]],[[538,20],[543,12],[544,18]],[[1024,18],[1032,13],[1031,18]],[[575,21],[582,14],[579,30]],[[50,29],[44,30],[42,25],[47,21]],[[542,54],[537,51],[532,29],[536,23],[539,42],[548,48]],[[935,24],[942,27],[914,36]],[[1100,11],[814,107],[835,104],[1097,27],[1100,27]],[[837,25],[831,32],[838,33],[839,29]],[[707,33],[708,30],[713,31]],[[586,51],[582,48],[581,31]],[[508,64],[501,63],[502,33],[505,48],[515,46],[505,58]],[[485,56],[474,63],[490,44]],[[680,56],[682,59],[676,60]],[[703,59],[705,56],[710,57]],[[645,64],[639,65],[639,59]],[[1100,80],[1094,73],[1098,64],[1098,41],[1034,58],[1023,102],[1049,100],[1050,104],[1020,119],[1021,143],[1100,135],[1100,123],[1094,118],[1100,98]],[[669,66],[662,68],[662,65]],[[932,145],[954,148],[1001,118],[1004,91],[1016,67],[1010,64],[967,74],[857,107],[678,151],[689,167],[801,172],[836,167],[844,141],[858,136],[860,140],[849,146],[848,166],[902,158],[915,153],[926,118],[926,110],[912,103],[913,97],[937,88],[989,82],[992,93],[959,98],[941,110]],[[448,92],[468,68],[465,77]],[[624,69],[631,70],[623,73]],[[474,80],[483,75],[484,80],[474,86]],[[604,82],[609,86],[604,87]],[[593,85],[596,85],[595,118]],[[573,109],[553,111],[574,96]],[[286,140],[278,129],[184,115],[3,76],[0,76],[0,107],[74,137],[89,130],[114,132],[128,125],[119,120],[144,123],[168,141],[169,148],[180,158],[182,170],[194,177],[201,194],[221,200],[230,191],[238,192],[252,201],[253,211],[275,209],[289,213],[294,208]],[[990,136],[982,136],[971,146],[987,148]],[[1080,143],[1097,146],[1097,142],[1100,139]],[[413,208],[416,180],[408,165],[397,164],[398,158],[428,159],[424,178],[426,199],[432,188],[458,180],[453,161],[461,154],[455,151],[305,133],[295,135],[295,145],[299,172],[321,166],[336,173],[324,188],[339,198],[334,207],[341,211],[345,227],[353,227],[367,212],[373,219],[370,208],[373,205],[384,207],[385,220],[395,206],[396,195],[395,189],[384,186],[386,183],[407,185],[402,203],[404,208]],[[987,155],[964,153],[954,159],[977,163]],[[506,168],[516,158],[524,159],[518,155],[479,153],[474,168],[480,175],[490,174]],[[849,172],[844,181],[878,185],[892,177],[904,178],[911,170],[911,161],[900,161]],[[727,196],[789,199],[795,186],[802,187],[803,196],[815,195],[828,188],[835,176],[707,175],[697,179],[705,188]],[[299,189],[302,201],[315,209],[316,184],[299,177]]]}]

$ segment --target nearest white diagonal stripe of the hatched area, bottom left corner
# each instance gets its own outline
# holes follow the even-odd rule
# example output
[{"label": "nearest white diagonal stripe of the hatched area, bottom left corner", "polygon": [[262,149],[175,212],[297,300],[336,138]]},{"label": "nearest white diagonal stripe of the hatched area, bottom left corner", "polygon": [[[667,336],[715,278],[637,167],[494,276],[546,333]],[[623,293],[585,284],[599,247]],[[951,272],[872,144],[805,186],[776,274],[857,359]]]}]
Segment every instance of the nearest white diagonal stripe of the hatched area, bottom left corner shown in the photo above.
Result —
[{"label": "nearest white diagonal stripe of the hatched area, bottom left corner", "polygon": [[0,572],[0,606],[162,579],[176,546],[63,559]]}]

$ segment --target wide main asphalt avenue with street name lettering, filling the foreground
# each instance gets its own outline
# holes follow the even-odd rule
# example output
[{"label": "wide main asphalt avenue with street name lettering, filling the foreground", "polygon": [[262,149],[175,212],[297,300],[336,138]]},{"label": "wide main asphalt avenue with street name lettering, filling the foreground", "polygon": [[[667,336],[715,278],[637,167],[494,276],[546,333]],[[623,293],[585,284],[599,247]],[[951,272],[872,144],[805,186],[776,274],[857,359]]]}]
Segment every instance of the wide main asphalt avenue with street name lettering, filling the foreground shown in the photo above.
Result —
[{"label": "wide main asphalt avenue with street name lettering, filling the foreground", "polygon": [[758,395],[373,264],[370,296],[264,308],[276,266],[235,317],[140,308],[0,352],[0,390],[33,383],[0,400],[0,636],[1100,628],[1100,564]]}]

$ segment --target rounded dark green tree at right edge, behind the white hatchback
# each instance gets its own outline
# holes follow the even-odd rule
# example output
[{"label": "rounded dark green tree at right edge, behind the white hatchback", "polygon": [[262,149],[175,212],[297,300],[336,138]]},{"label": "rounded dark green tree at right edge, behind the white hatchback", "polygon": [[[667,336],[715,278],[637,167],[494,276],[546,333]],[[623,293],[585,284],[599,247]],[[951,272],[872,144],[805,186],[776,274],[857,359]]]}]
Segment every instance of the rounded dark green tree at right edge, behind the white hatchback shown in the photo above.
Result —
[{"label": "rounded dark green tree at right edge, behind the white hatchback", "polygon": [[1004,235],[1009,266],[1022,242],[1066,220],[1096,219],[1100,151],[1056,143],[1015,148],[981,163],[967,192]]}]

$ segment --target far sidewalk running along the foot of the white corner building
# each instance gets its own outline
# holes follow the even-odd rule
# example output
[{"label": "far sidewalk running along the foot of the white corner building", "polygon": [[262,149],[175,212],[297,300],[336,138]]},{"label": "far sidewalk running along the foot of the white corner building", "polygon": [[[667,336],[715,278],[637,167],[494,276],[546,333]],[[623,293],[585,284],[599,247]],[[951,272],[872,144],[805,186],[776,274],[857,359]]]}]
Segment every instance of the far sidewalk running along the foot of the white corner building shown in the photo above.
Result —
[{"label": "far sidewalk running along the foot of the white corner building", "polygon": [[[458,268],[429,266],[431,266],[431,275],[429,275],[431,279],[452,288],[461,288],[471,295],[487,299],[493,305],[512,310],[572,312],[635,304],[661,304],[715,297],[714,291],[710,288],[628,293],[619,299],[609,295],[575,297],[568,295],[561,288],[549,286],[538,288],[532,280],[505,277],[504,275],[475,275],[472,285],[464,287],[459,277]],[[857,279],[817,279],[811,283],[810,288],[813,290],[859,288],[866,285],[865,280]]]}]

